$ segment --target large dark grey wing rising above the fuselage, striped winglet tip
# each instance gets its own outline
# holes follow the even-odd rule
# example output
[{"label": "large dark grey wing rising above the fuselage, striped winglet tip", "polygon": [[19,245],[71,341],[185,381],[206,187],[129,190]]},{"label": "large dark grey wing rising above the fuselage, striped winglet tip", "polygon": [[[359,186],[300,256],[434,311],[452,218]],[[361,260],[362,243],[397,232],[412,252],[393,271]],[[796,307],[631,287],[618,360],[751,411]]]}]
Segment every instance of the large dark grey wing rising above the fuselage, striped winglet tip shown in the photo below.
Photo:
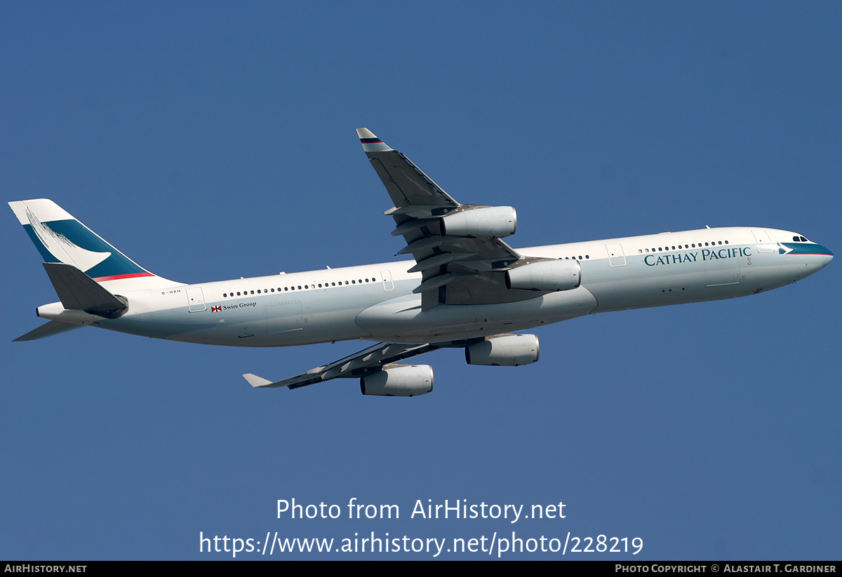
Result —
[{"label": "large dark grey wing rising above the fuselage, striped winglet tip", "polygon": [[[413,291],[421,294],[422,310],[438,304],[505,303],[535,296],[506,289],[504,271],[526,261],[504,241],[445,235],[443,217],[492,207],[456,202],[413,161],[386,146],[370,130],[357,129],[357,135],[395,204],[385,214],[395,220],[392,236],[403,236],[407,241],[398,254],[412,253],[415,266],[408,272],[422,273],[422,282]],[[509,209],[515,220],[514,209],[496,208]],[[509,234],[514,233],[516,224],[512,225]]]}]

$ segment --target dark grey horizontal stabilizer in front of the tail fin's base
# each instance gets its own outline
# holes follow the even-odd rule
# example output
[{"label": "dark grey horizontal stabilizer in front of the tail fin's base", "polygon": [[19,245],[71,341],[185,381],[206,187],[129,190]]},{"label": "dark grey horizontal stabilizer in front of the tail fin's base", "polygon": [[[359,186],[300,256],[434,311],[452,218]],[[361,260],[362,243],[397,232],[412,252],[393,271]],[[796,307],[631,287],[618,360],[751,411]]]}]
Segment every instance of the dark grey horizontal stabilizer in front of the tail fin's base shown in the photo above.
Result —
[{"label": "dark grey horizontal stabilizer in front of the tail fin's base", "polygon": [[77,267],[61,262],[43,264],[65,309],[84,310],[106,319],[116,319],[128,309],[124,299],[109,293]]}]

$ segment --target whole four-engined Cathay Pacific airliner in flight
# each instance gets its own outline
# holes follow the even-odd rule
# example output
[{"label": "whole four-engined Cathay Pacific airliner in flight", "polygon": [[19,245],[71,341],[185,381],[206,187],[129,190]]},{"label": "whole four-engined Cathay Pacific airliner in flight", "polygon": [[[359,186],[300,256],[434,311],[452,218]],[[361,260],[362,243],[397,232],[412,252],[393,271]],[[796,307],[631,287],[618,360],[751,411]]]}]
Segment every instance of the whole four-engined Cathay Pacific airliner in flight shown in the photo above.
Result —
[{"label": "whole four-engined Cathay Pacific airliner in flight", "polygon": [[9,203],[44,257],[61,302],[38,307],[29,341],[80,326],[173,341],[287,347],[370,339],[354,355],[253,387],[296,389],[360,378],[363,394],[433,389],[428,365],[398,362],[461,347],[469,364],[538,360],[534,335],[511,334],[573,317],[731,299],[775,289],[833,254],[797,232],[706,228],[515,250],[510,206],[460,204],[370,130],[357,130],[394,207],[392,236],[414,261],[184,284],[158,277],[51,200]]}]

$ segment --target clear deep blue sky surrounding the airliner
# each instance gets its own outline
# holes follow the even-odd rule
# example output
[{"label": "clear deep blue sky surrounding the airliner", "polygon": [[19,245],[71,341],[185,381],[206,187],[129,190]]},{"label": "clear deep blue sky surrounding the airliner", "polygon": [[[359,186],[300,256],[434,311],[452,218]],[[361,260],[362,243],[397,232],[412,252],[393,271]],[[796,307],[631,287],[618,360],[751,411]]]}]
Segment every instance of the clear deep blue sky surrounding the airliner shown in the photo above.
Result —
[{"label": "clear deep blue sky surrounding the airliner", "polygon": [[[54,199],[188,283],[385,262],[401,241],[367,126],[461,202],[514,205],[515,247],[752,225],[839,253],[840,24],[821,2],[3,3],[4,197]],[[569,558],[839,558],[838,263],[750,298],[544,327],[526,367],[435,352],[419,358],[433,394],[381,399],[240,377],[360,342],[13,343],[56,296],[3,222],[0,558],[231,557],[200,553],[200,532],[512,531],[643,540]],[[292,498],[344,516],[278,519]],[[401,518],[349,520],[351,498]],[[417,500],[566,517],[410,519]],[[543,557],[560,555],[504,554]]]}]

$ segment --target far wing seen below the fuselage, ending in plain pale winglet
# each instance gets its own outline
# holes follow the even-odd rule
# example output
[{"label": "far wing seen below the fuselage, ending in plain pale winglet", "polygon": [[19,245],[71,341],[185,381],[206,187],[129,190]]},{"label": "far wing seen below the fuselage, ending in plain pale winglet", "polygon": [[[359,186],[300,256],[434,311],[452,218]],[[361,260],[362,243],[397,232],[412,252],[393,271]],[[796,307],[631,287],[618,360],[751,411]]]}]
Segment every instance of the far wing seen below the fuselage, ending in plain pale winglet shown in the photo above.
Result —
[{"label": "far wing seen below the fuselage, ending in plain pale winglet", "polygon": [[[476,340],[481,339],[474,339],[474,341]],[[471,342],[473,341],[467,342],[466,344],[471,344]],[[417,357],[418,355],[423,355],[425,352],[435,351],[442,347],[448,347],[451,344],[453,343],[402,345],[392,342],[378,342],[376,345],[363,349],[360,352],[355,352],[349,357],[340,358],[338,361],[323,365],[322,367],[312,368],[306,373],[285,378],[282,381],[273,383],[268,378],[258,377],[252,373],[246,373],[242,376],[254,388],[288,387],[289,389],[298,389],[300,387],[306,387],[308,384],[322,383],[331,378],[365,377],[370,373],[376,373],[382,368],[389,368],[392,363],[397,363],[397,361]],[[464,346],[464,344],[461,346]]]}]

